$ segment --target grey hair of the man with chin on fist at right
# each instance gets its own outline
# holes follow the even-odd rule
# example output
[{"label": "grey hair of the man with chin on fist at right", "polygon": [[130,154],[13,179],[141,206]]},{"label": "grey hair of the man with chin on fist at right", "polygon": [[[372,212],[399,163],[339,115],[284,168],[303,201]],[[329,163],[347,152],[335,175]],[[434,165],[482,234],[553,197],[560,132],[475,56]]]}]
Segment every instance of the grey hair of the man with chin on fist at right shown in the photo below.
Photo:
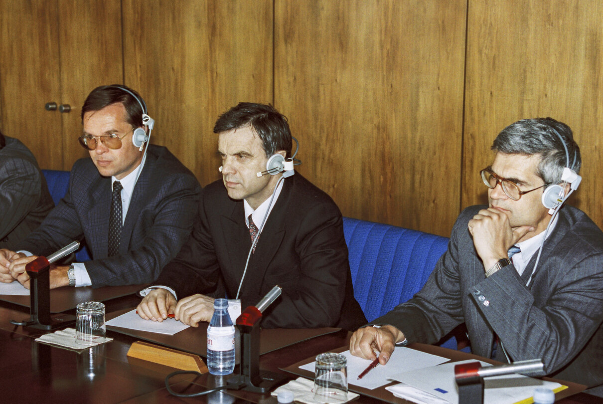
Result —
[{"label": "grey hair of the man with chin on fist at right", "polygon": [[[563,141],[557,136],[557,132]],[[508,154],[540,155],[540,178],[548,184],[559,184],[563,168],[568,164],[580,172],[582,158],[580,148],[573,140],[572,129],[553,118],[524,119],[505,127],[492,144],[492,150]]]}]

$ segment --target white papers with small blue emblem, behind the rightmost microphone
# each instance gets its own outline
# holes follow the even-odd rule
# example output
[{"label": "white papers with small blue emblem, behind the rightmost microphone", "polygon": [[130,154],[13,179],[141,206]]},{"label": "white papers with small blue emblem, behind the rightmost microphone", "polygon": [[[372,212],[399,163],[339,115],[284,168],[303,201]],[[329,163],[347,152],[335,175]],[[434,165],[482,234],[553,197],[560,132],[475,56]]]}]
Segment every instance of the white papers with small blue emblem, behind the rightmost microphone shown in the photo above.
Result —
[{"label": "white papers with small blue emblem, behind the rightmost microphone", "polygon": [[[458,388],[454,380],[454,367],[469,362],[475,361],[451,362],[412,372],[404,372],[394,375],[393,379],[434,394],[434,396],[450,403],[458,403]],[[482,366],[491,366],[485,362],[480,363]],[[538,386],[547,386],[551,390],[561,387],[559,383],[534,379],[520,374],[487,377],[484,379],[484,403],[516,403],[531,397]]]}]

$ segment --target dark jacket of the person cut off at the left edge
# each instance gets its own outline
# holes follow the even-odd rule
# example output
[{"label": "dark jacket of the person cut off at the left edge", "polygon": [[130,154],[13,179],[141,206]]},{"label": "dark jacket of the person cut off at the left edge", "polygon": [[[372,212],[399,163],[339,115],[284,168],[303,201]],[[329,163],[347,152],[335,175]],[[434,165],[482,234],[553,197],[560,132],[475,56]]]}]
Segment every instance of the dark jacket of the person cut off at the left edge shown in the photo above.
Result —
[{"label": "dark jacket of the person cut off at the left edge", "polygon": [[34,231],[54,208],[36,158],[17,139],[4,136],[0,150],[0,248],[13,246]]}]

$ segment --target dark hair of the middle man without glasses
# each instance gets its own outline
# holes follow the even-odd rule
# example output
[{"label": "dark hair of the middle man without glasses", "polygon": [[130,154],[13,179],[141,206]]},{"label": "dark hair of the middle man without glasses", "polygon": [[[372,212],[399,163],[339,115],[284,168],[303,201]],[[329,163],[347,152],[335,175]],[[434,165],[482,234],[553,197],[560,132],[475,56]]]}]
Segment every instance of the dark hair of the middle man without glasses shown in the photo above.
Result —
[{"label": "dark hair of the middle man without glasses", "polygon": [[262,141],[266,156],[285,150],[285,158],[291,157],[291,129],[287,118],[271,104],[238,103],[220,115],[213,126],[213,133],[247,126],[251,126]]}]

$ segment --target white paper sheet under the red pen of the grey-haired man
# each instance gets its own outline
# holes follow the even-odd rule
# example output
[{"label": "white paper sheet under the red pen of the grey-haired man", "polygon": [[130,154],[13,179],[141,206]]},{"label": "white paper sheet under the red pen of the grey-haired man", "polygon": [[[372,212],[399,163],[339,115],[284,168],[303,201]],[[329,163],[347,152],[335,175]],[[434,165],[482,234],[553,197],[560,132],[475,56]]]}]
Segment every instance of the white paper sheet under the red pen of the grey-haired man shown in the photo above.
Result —
[{"label": "white paper sheet under the red pen of the grey-haired man", "polygon": [[[406,347],[396,347],[387,365],[377,365],[366,376],[358,380],[358,375],[371,364],[368,359],[352,356],[350,351],[342,352],[347,358],[347,383],[373,390],[390,382],[391,376],[400,371],[409,371],[447,362],[449,359]],[[315,362],[300,366],[301,369],[314,372]]]}]

